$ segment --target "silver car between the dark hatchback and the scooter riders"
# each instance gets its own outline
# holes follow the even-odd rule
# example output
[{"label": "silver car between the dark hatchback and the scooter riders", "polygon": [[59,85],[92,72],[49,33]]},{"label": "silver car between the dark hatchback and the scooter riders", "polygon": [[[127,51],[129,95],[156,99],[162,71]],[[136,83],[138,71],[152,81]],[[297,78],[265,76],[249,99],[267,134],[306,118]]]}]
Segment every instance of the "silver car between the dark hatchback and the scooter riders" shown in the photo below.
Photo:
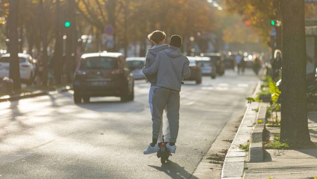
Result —
[{"label": "silver car between the dark hatchback and the scooter riders", "polygon": [[145,79],[142,72],[145,64],[145,57],[128,57],[126,58],[126,61],[135,80]]}]

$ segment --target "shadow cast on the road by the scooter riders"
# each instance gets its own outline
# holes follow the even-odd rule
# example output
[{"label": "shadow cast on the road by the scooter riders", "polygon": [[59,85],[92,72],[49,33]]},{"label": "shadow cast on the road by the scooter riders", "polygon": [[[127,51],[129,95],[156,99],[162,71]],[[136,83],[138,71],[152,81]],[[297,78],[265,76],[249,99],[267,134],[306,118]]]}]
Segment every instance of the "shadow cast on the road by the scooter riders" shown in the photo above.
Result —
[{"label": "shadow cast on the road by the scooter riders", "polygon": [[153,166],[149,165],[152,168],[155,168],[156,170],[163,171],[166,173],[168,176],[170,176],[173,179],[178,179],[178,178],[191,178],[191,179],[198,179],[196,176],[193,176],[191,173],[188,173],[184,169],[184,167],[179,166],[178,164],[168,160],[168,163],[165,163],[161,167],[159,166]]}]

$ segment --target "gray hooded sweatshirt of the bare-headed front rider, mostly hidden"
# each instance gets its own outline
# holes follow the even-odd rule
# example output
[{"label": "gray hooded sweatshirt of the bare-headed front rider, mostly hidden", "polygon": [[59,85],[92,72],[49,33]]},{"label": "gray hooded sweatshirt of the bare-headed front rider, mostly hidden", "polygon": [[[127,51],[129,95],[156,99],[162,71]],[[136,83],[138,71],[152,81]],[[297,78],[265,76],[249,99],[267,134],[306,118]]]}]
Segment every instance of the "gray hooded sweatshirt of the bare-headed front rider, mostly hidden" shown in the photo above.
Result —
[{"label": "gray hooded sweatshirt of the bare-headed front rider, mostly hidden", "polygon": [[[167,48],[168,48],[168,44],[162,44],[160,46],[154,46],[152,49],[149,49],[145,57],[144,68],[149,68],[155,62],[156,55],[162,50],[165,50]],[[148,80],[148,82],[150,82],[153,85],[156,83],[156,74],[153,74],[153,75],[144,74],[144,75],[146,79]]]}]

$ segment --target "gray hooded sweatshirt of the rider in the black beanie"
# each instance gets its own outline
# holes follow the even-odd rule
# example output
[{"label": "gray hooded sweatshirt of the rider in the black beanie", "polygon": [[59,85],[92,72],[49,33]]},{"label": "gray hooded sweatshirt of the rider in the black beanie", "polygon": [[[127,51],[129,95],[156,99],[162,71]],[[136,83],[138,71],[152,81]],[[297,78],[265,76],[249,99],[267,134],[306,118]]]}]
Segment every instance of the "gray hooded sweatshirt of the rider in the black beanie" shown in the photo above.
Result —
[{"label": "gray hooded sweatshirt of the rider in the black beanie", "polygon": [[145,75],[157,73],[156,86],[180,91],[183,78],[190,77],[189,60],[180,49],[169,46],[168,49],[156,55],[150,68],[143,69]]}]

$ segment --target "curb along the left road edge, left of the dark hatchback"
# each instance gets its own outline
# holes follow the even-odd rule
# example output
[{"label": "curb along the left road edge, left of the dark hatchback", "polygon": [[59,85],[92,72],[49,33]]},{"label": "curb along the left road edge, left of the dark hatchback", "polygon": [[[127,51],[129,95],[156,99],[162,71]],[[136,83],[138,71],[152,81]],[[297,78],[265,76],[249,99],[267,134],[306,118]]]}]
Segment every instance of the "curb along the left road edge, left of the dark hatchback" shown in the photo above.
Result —
[{"label": "curb along the left road edge, left of the dark hatchback", "polygon": [[6,101],[17,101],[20,99],[25,99],[25,98],[34,98],[38,96],[46,96],[46,95],[52,95],[56,93],[63,93],[71,90],[71,86],[65,86],[60,89],[57,89],[56,91],[35,91],[35,92],[30,92],[30,93],[22,93],[20,95],[13,95],[13,96],[4,96],[3,98],[0,98],[0,102],[6,102]]}]

